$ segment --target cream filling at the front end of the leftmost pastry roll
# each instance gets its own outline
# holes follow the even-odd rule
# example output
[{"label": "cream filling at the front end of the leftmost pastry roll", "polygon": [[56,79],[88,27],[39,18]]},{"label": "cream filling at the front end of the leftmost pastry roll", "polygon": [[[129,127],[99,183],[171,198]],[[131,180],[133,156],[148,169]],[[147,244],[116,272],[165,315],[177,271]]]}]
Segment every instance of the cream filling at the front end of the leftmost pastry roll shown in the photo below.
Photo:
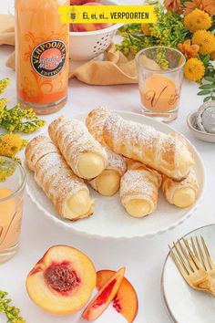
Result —
[{"label": "cream filling at the front end of the leftmost pastry roll", "polygon": [[72,195],[66,203],[65,214],[67,219],[76,219],[82,215],[90,213],[92,200],[85,190],[81,190]]}]

